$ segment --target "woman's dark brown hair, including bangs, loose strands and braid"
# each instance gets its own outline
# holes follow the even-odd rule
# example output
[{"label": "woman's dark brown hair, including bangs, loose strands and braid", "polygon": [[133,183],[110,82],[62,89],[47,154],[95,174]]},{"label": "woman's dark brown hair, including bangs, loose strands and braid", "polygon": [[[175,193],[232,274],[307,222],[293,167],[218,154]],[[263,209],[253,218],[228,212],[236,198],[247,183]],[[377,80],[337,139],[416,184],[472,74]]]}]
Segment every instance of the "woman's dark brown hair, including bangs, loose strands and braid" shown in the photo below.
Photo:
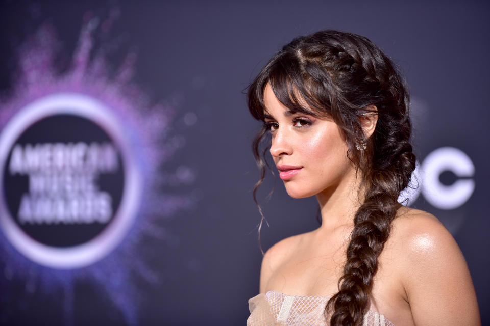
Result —
[{"label": "woman's dark brown hair, including bangs, loose strands and braid", "polygon": [[[369,307],[378,257],[400,208],[398,196],[415,169],[405,81],[394,63],[369,39],[346,32],[320,31],[285,45],[249,86],[250,113],[262,121],[267,83],[290,110],[313,110],[331,116],[344,133],[347,155],[362,177],[364,198],[354,216],[344,274],[338,281],[338,292],[325,308],[331,325],[359,325]],[[368,109],[370,105],[376,106],[378,121],[374,133],[366,139],[359,118],[376,114]],[[263,152],[260,147],[266,134],[264,128],[253,143],[261,169],[253,192],[256,203],[257,188],[265,175],[262,156],[268,146]],[[362,141],[366,149],[357,150],[356,144]],[[261,226],[260,206],[259,211]]]}]

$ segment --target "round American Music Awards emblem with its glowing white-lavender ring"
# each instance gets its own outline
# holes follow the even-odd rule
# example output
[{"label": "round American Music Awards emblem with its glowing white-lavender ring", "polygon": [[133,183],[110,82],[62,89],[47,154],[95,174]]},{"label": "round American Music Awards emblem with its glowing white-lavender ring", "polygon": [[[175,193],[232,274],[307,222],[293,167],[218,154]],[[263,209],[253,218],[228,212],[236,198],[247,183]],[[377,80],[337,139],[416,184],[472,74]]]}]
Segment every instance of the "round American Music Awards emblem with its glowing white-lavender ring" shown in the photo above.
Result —
[{"label": "round American Music Awards emblem with its glowing white-lavender ring", "polygon": [[0,226],[13,246],[53,268],[100,260],[124,238],[140,178],[118,119],[77,93],[23,107],[0,134]]}]

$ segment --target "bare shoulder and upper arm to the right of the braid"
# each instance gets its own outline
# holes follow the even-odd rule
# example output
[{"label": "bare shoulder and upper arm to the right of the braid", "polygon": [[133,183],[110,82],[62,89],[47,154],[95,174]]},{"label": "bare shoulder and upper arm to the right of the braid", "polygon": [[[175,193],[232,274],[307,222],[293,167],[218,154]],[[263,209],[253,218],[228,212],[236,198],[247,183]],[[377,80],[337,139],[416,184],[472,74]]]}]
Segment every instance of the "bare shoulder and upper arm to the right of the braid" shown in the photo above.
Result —
[{"label": "bare shoulder and upper arm to the right of the braid", "polygon": [[466,261],[435,216],[402,207],[389,242],[415,324],[480,324]]}]

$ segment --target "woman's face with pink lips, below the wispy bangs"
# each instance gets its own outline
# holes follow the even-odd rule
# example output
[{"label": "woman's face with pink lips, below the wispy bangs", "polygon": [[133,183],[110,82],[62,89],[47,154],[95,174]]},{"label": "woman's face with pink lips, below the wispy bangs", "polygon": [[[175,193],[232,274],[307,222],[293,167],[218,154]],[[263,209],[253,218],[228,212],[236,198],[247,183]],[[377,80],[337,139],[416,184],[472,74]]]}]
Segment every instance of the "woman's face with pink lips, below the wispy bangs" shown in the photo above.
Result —
[{"label": "woman's face with pink lips, below the wispy bangs", "polygon": [[290,111],[269,84],[264,104],[265,123],[272,134],[271,155],[289,196],[330,193],[355,173],[346,140],[332,119]]}]

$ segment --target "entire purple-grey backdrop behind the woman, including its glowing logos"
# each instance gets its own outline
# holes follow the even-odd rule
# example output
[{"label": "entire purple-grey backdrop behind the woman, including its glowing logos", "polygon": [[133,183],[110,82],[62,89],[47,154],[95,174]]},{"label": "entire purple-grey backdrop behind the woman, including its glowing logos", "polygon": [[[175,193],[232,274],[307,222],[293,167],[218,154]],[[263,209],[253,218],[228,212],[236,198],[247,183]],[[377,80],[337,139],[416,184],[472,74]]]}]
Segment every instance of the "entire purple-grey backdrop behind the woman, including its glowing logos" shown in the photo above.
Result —
[{"label": "entire purple-grey backdrop behind the woman, including its glowing logos", "polygon": [[[400,200],[454,235],[490,324],[489,14],[476,1],[3,2],[0,323],[244,324],[260,124],[242,91],[290,39],[333,28],[405,74],[419,187]],[[279,179],[259,198],[264,250],[317,227],[315,199]]]}]

